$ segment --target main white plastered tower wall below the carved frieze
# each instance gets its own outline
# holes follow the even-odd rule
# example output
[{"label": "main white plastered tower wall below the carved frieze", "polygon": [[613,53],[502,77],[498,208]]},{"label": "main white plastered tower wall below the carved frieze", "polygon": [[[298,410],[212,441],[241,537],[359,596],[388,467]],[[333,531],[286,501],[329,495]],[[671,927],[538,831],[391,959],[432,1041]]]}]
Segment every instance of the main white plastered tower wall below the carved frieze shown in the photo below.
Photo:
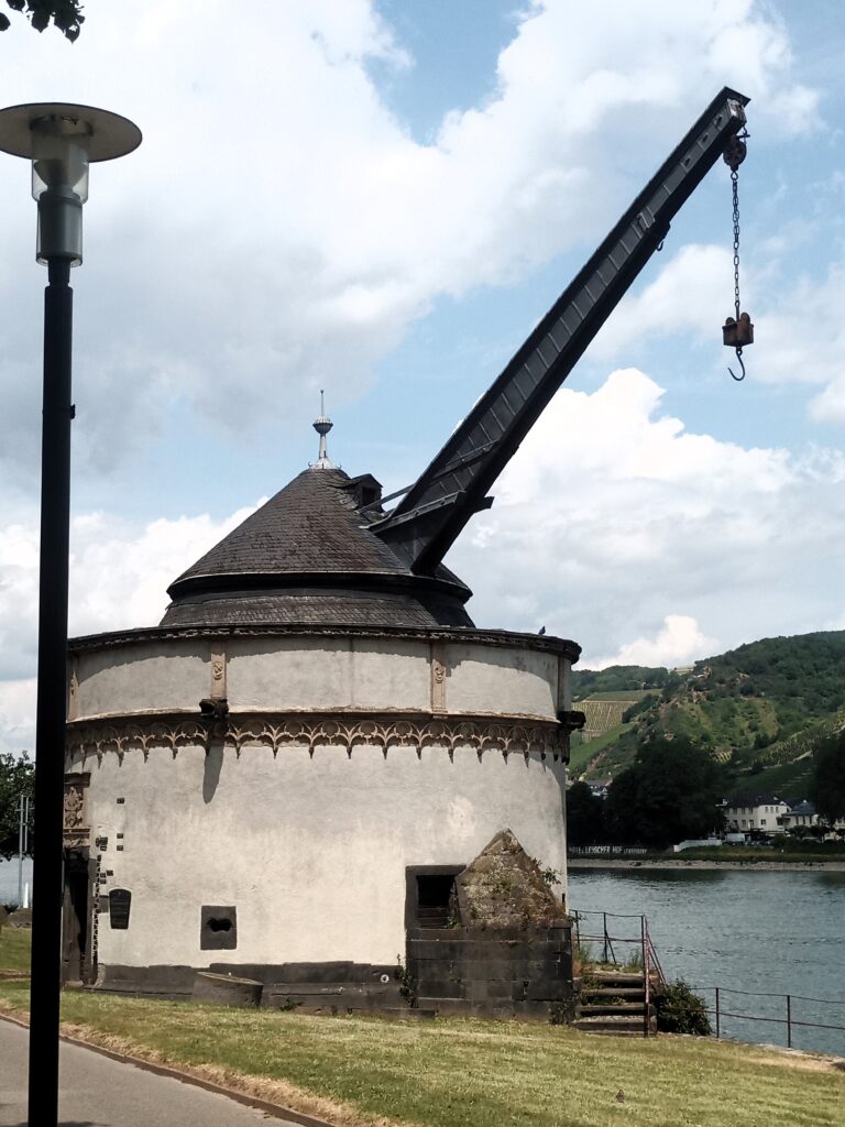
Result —
[{"label": "main white plastered tower wall below the carved frieze", "polygon": [[[84,765],[92,833],[108,838],[104,891],[132,891],[127,931],[101,917],[105,965],[392,964],[406,866],[468,864],[505,827],[543,867],[566,864],[564,767],[551,757],[186,747]],[[204,904],[237,908],[235,950],[201,950]]]}]

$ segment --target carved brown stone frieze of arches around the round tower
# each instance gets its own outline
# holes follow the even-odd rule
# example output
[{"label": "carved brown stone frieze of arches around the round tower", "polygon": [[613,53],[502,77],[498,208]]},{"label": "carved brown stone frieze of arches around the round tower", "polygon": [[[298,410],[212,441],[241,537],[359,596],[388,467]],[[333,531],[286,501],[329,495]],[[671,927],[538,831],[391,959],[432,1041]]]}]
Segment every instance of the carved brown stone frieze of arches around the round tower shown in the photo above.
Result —
[{"label": "carved brown stone frieze of arches around the round tower", "polygon": [[[377,717],[366,716],[230,716],[224,731],[216,734],[238,754],[254,745],[272,748],[274,755],[291,746],[306,747],[313,754],[320,746],[340,746],[352,754],[356,745],[375,745],[386,755],[392,747],[443,747],[450,755],[459,747],[471,747],[479,755],[498,751],[504,755],[539,753],[555,761],[567,757],[567,733],[559,724],[491,721],[481,717]],[[206,746],[210,726],[202,719],[88,720],[68,726],[71,755],[106,753],[123,755],[140,748],[144,756],[152,748],[166,748],[176,755],[180,747]]]}]

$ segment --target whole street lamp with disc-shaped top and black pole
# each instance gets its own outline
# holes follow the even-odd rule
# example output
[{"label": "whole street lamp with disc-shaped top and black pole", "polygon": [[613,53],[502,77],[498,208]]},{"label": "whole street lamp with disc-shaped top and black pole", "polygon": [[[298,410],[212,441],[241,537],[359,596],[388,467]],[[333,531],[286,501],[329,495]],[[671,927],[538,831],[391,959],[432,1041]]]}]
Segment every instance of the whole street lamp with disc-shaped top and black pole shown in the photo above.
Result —
[{"label": "whole street lamp with disc-shaped top and black pole", "polygon": [[0,151],[33,165],[38,203],[36,257],[44,292],[38,696],[35,808],[38,836],[33,885],[29,1125],[54,1127],[59,1113],[59,1000],[63,888],[64,726],[66,720],[68,554],[70,533],[70,268],[82,261],[82,204],[88,166],[132,152],[136,125],[90,106],[39,103],[0,110]]}]

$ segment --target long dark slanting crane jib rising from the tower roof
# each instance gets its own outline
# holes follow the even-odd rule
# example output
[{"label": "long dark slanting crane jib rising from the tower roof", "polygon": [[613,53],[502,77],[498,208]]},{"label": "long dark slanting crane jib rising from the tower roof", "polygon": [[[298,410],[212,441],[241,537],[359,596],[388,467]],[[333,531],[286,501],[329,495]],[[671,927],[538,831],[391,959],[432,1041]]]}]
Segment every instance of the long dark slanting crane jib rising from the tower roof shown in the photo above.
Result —
[{"label": "long dark slanting crane jib rising from the tower roof", "polygon": [[749,99],[727,87],[637,196],[404,498],[370,527],[432,573],[543,408],[746,123]]}]

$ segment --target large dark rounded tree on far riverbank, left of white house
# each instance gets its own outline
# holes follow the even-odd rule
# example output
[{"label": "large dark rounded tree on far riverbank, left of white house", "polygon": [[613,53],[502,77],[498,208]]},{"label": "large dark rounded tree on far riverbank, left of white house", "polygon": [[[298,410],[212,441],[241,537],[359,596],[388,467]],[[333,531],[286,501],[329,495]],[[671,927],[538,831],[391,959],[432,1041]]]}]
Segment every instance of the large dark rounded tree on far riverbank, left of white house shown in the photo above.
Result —
[{"label": "large dark rounded tree on far riverbank, left of white house", "polygon": [[706,752],[682,737],[640,745],[634,762],[620,772],[606,799],[612,837],[665,848],[701,837],[720,825],[723,779]]}]

